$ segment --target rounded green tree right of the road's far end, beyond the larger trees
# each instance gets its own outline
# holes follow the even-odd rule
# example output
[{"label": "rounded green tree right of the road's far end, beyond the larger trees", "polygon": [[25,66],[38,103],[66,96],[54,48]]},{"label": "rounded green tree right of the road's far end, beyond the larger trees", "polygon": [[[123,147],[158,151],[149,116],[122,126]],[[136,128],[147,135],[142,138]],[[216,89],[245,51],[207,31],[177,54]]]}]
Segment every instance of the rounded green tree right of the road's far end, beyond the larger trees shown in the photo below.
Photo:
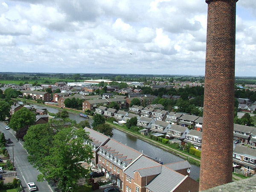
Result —
[{"label": "rounded green tree right of the road's far end, beyond the larger trees", "polygon": [[35,124],[35,114],[29,111],[27,108],[21,108],[19,111],[15,112],[10,120],[10,128],[14,131],[19,131],[25,126],[30,126]]}]

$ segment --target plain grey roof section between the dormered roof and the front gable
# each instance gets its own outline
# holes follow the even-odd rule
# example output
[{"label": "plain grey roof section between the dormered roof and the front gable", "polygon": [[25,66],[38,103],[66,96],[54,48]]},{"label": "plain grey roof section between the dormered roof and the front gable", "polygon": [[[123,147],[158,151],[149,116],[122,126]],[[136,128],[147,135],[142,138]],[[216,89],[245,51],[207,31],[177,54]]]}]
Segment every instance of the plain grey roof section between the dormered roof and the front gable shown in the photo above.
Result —
[{"label": "plain grey roof section between the dormered roof and the front gable", "polygon": [[159,166],[160,164],[154,160],[145,157],[144,155],[133,162],[127,169],[125,169],[125,174],[134,179],[134,172],[138,169],[149,168],[154,166]]}]

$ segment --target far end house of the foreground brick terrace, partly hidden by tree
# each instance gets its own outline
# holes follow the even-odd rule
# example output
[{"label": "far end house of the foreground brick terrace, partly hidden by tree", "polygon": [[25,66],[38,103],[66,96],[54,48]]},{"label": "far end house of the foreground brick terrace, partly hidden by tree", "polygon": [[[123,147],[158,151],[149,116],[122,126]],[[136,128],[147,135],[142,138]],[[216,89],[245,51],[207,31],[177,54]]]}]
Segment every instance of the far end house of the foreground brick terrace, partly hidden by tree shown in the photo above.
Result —
[{"label": "far end house of the foreground brick terrace, partly hidden by tree", "polygon": [[84,130],[89,133],[89,140],[86,140],[84,144],[88,144],[92,146],[93,159],[91,160],[90,166],[95,169],[96,165],[99,163],[99,157],[97,152],[99,151],[99,147],[105,145],[110,138],[105,136],[104,134],[99,133],[98,131],[94,131],[93,129],[85,127]]}]

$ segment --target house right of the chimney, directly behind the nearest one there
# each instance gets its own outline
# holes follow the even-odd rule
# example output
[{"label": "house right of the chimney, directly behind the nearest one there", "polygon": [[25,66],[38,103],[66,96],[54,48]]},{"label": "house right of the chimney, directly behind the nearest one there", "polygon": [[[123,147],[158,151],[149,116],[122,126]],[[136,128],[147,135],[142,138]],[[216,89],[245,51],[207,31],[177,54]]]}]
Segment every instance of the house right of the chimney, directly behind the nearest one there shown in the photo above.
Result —
[{"label": "house right of the chimney, directly behind the nearest one there", "polygon": [[233,139],[239,140],[239,143],[249,144],[250,143],[250,134],[255,131],[255,127],[250,127],[246,125],[239,125],[234,123],[234,133]]}]

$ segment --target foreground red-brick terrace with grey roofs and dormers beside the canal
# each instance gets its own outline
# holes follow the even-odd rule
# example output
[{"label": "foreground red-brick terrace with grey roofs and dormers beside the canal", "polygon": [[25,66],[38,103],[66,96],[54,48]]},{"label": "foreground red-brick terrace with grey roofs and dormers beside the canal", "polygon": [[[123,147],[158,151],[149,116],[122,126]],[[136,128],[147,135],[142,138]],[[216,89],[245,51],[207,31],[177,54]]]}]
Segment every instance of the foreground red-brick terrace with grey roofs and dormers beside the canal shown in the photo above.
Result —
[{"label": "foreground red-brick terrace with grey roofs and dormers beside the canal", "polygon": [[152,158],[117,142],[90,128],[93,148],[91,165],[125,192],[183,192],[198,191],[198,182],[189,177],[190,165],[187,161],[162,165]]}]

